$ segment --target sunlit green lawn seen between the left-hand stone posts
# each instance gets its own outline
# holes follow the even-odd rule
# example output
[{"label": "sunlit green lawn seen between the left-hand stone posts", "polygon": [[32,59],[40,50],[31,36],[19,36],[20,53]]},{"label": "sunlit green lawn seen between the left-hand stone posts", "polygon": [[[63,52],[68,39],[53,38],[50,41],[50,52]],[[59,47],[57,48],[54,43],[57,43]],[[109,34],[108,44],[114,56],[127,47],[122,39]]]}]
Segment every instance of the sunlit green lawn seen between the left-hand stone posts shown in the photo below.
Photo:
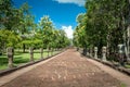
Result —
[{"label": "sunlit green lawn seen between the left-hand stone posts", "polygon": [[[54,51],[53,54],[55,54],[57,52],[60,52],[60,51]],[[49,55],[51,55],[51,53]],[[43,51],[43,58],[46,59],[47,57],[48,57],[48,52]],[[22,53],[20,50],[18,51],[16,50],[14,53],[14,63],[13,64],[15,66],[25,64],[25,63],[29,62],[29,58],[30,58],[30,54],[29,54],[28,50],[26,51],[26,53]],[[35,59],[35,61],[41,59],[41,54],[40,54],[39,50],[34,51],[34,59]],[[8,58],[6,58],[6,54],[3,54],[3,55],[0,55],[0,71],[5,70],[5,69],[8,69]]]}]

